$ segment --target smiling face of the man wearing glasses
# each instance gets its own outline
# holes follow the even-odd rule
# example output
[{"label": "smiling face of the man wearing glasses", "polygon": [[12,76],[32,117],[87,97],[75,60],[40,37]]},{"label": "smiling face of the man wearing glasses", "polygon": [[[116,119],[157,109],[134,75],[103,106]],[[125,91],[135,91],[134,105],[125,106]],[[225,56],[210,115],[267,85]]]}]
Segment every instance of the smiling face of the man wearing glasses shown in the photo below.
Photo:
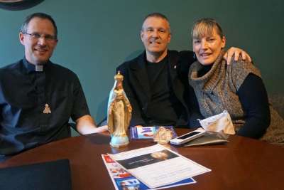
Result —
[{"label": "smiling face of the man wearing glasses", "polygon": [[[40,37],[36,37],[40,35]],[[35,17],[28,23],[26,33],[20,33],[19,38],[25,47],[25,56],[28,62],[38,65],[46,63],[53,55],[58,42],[52,39],[55,36],[53,23],[48,19]]]}]

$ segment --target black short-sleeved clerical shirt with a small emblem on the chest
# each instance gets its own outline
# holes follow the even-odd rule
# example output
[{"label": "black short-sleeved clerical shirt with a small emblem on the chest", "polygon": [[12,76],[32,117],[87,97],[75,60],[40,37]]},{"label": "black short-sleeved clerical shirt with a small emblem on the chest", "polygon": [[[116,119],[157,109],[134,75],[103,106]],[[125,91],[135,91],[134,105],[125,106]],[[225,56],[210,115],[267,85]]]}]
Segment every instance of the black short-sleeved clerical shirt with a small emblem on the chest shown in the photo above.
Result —
[{"label": "black short-sleeved clerical shirt with a small emblem on the chest", "polygon": [[25,58],[0,69],[0,155],[70,137],[70,117],[84,115],[87,102],[71,70],[49,61],[35,71]]}]

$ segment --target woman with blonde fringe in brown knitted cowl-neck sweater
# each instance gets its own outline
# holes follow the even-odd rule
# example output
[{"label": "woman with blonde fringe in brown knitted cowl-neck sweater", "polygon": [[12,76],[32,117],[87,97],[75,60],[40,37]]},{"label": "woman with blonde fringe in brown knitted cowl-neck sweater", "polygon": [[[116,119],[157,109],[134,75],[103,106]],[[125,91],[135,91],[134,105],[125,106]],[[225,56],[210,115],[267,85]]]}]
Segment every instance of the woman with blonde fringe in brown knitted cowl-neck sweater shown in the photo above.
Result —
[{"label": "woman with blonde fringe in brown knitted cowl-neck sweater", "polygon": [[261,72],[244,60],[226,64],[223,58],[226,38],[219,23],[200,19],[192,27],[191,36],[197,61],[190,66],[189,83],[195,90],[202,116],[227,110],[236,134],[283,143],[284,122],[269,107]]}]

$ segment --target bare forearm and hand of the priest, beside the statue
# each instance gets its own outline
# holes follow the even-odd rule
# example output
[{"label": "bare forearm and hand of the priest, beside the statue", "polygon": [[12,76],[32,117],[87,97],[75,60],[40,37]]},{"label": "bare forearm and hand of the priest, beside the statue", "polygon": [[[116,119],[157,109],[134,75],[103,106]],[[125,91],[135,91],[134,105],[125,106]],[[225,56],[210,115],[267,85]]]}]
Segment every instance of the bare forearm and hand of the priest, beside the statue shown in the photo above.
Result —
[{"label": "bare forearm and hand of the priest, beside the statue", "polygon": [[84,115],[76,120],[76,129],[80,134],[91,134],[97,132],[105,132],[108,130],[107,125],[96,127],[91,115]]}]

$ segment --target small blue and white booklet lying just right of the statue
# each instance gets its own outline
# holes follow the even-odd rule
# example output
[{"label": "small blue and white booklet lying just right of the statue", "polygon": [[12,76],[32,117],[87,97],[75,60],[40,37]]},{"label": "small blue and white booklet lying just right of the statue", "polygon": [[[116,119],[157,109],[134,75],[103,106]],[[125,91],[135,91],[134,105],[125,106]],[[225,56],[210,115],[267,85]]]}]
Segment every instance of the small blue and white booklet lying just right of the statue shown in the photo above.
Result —
[{"label": "small blue and white booklet lying just right of the statue", "polygon": [[[151,127],[131,127],[130,138],[131,139],[153,139],[154,134],[158,131],[159,127],[162,126],[151,126]],[[163,126],[165,129],[173,132],[173,137],[178,137],[173,126]]]}]

